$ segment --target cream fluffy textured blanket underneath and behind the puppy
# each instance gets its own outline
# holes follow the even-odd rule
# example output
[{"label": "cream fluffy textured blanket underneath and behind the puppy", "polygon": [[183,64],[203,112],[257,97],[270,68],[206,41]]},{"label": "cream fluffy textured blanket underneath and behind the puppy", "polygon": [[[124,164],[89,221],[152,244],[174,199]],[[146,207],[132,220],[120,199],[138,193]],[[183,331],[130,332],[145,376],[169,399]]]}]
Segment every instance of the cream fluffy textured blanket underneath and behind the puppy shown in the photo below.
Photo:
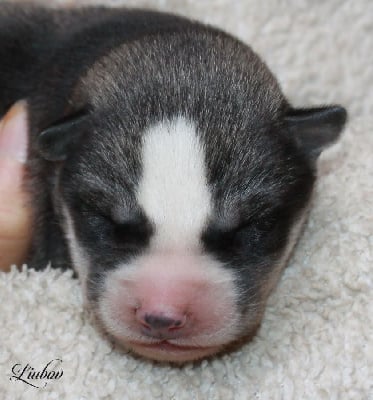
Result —
[{"label": "cream fluffy textured blanket underneath and behind the puppy", "polygon": [[[373,2],[106,4],[218,25],[262,55],[295,105],[341,103],[350,121],[320,160],[305,234],[251,343],[181,368],[143,361],[99,336],[68,273],[13,270],[0,274],[0,399],[372,400]],[[43,389],[10,379],[16,363],[41,369],[56,358],[64,375]]]}]

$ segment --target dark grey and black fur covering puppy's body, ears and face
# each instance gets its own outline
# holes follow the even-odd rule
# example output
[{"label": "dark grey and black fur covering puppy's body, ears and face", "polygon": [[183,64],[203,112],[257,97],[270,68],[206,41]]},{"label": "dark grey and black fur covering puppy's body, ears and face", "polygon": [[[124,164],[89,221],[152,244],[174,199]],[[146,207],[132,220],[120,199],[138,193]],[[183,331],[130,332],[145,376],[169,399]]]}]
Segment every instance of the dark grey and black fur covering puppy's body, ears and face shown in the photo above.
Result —
[{"label": "dark grey and black fur covering puppy's body, ears and face", "polygon": [[213,194],[200,239],[234,272],[242,315],[265,304],[308,207],[317,156],[345,123],[342,107],[294,110],[249,47],[168,14],[2,5],[0,60],[0,115],[21,98],[30,109],[33,268],[73,267],[63,199],[92,266],[89,297],[99,300],[108,271],[141,253],[156,229],[134,196],[141,135],[183,115],[197,124]]}]

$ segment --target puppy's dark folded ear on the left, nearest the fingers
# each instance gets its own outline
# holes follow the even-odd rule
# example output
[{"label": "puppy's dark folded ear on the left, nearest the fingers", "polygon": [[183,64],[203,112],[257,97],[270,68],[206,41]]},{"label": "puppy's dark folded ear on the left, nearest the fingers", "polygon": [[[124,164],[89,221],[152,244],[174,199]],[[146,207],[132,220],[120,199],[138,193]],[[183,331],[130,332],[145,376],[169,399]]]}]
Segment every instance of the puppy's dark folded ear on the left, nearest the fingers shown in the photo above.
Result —
[{"label": "puppy's dark folded ear on the left, nearest the fingers", "polygon": [[39,153],[48,161],[64,161],[87,124],[87,112],[79,112],[45,129],[37,139]]}]

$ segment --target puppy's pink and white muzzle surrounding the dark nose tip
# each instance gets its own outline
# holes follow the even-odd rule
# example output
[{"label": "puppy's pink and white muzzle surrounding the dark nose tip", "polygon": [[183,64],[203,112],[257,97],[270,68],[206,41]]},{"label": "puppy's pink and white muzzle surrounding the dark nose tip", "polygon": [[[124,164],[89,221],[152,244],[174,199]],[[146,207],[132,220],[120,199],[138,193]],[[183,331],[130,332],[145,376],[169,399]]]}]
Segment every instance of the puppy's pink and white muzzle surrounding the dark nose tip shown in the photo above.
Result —
[{"label": "puppy's pink and white muzzle surrounding the dark nose tip", "polygon": [[[98,314],[123,343],[171,340],[183,346],[222,346],[240,333],[233,274],[200,255],[152,254],[107,275]],[[181,321],[150,330],[147,316]]]}]

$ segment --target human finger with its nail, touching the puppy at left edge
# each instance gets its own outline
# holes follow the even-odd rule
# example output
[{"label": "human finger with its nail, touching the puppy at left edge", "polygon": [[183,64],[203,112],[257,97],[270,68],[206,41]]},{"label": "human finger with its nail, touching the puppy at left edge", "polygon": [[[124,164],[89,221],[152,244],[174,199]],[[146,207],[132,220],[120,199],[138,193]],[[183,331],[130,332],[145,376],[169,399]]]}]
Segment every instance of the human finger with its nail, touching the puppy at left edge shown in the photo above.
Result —
[{"label": "human finger with its nail, touching the puppy at left edge", "polygon": [[27,156],[26,103],[11,107],[0,121],[0,270],[21,265],[31,241],[31,212],[22,188]]}]

